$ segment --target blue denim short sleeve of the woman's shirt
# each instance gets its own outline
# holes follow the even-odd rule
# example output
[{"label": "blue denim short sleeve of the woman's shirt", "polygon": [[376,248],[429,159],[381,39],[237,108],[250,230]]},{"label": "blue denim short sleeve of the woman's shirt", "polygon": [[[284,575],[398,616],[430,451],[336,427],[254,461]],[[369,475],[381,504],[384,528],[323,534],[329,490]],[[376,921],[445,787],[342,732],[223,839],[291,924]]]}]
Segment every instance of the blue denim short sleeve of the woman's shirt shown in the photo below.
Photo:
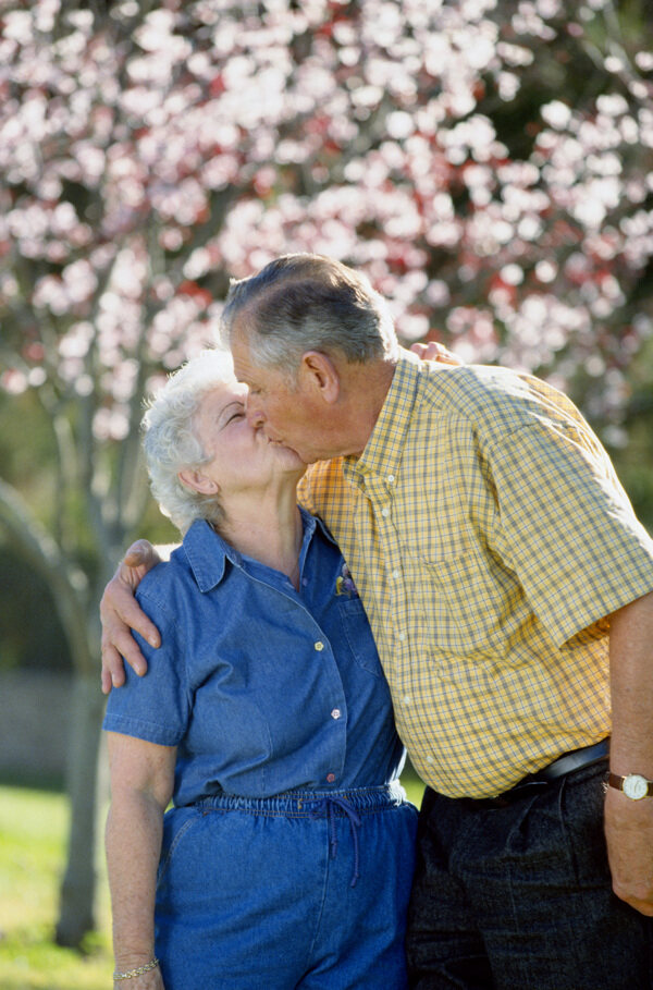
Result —
[{"label": "blue denim short sleeve of the woman's shirt", "polygon": [[139,677],[125,662],[125,683],[111,689],[102,729],[176,746],[186,733],[190,712],[185,658],[174,622],[146,597],[139,598],[139,604],[159,628],[161,646],[153,649],[134,633],[147,660],[147,673]]}]

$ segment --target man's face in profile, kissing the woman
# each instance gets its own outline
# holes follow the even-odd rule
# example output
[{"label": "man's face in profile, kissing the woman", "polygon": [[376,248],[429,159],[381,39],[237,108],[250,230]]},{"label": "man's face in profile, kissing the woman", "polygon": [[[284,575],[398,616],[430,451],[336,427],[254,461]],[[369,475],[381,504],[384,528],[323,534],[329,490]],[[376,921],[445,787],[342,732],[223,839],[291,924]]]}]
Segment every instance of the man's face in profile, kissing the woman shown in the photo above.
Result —
[{"label": "man's face in profile, kissing the woman", "polygon": [[[308,390],[294,387],[281,371],[251,360],[245,333],[233,333],[231,350],[238,381],[245,382],[247,419],[272,441],[294,450],[307,464],[330,456],[323,449],[318,406]],[[323,413],[323,411],[322,411]]]}]

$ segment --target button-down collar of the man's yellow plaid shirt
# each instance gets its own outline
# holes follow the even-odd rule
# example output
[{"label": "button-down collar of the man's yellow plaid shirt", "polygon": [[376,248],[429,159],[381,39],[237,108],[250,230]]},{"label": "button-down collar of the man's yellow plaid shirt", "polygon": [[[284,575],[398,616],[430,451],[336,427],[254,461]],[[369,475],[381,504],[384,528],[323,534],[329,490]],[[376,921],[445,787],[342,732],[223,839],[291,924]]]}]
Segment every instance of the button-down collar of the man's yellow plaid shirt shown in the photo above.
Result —
[{"label": "button-down collar of the man's yellow plaid shirt", "polygon": [[420,365],[416,354],[401,350],[385,402],[362,454],[344,459],[346,478],[362,484],[365,475],[396,473],[415,405]]}]

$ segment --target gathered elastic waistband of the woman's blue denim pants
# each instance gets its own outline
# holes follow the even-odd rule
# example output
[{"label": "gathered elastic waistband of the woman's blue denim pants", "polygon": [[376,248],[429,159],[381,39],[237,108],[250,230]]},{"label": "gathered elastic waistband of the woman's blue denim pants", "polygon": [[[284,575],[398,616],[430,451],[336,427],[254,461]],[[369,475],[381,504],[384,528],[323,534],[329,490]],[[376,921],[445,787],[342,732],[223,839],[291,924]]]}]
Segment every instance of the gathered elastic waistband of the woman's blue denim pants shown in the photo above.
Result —
[{"label": "gathered elastic waistband of the woman's blue denim pants", "polygon": [[[250,815],[285,815],[291,818],[316,818],[329,814],[346,817],[338,802],[347,802],[359,814],[387,810],[406,800],[398,781],[382,787],[348,787],[343,791],[285,791],[273,797],[239,797],[235,794],[214,794],[194,803],[194,807],[215,811],[247,811]],[[316,816],[318,810],[318,816]]]}]

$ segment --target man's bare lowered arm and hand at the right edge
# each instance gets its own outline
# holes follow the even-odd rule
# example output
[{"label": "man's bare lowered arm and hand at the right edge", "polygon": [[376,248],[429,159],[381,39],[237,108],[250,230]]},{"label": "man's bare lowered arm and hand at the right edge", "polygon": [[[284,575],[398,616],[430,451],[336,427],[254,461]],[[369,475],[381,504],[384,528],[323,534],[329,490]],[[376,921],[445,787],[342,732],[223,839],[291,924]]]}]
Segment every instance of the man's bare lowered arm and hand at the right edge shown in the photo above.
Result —
[{"label": "man's bare lowered arm and hand at the right edge", "polygon": [[[653,780],[653,592],[611,616],[611,770]],[[607,787],[605,835],[615,894],[653,917],[653,797]]]}]

